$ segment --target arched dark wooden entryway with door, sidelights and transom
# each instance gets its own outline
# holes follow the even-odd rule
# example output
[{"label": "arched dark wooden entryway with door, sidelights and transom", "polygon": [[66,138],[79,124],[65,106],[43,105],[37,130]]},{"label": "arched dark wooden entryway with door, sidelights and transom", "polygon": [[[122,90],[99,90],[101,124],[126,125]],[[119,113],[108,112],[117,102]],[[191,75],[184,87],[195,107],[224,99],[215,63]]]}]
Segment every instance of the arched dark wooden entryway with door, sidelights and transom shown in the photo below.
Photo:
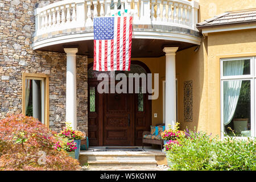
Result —
[{"label": "arched dark wooden entryway with door, sidelights and transom", "polygon": [[[141,61],[131,61],[130,71],[151,73]],[[93,63],[88,65],[88,135],[90,146],[141,146],[143,131],[150,131],[151,100],[148,93],[98,93]],[[110,77],[110,72],[105,72]],[[109,78],[110,80],[110,78]],[[118,81],[116,81],[117,83]],[[135,81],[133,81],[134,84]],[[129,88],[130,85],[127,86]],[[135,88],[135,86],[133,86]]]}]

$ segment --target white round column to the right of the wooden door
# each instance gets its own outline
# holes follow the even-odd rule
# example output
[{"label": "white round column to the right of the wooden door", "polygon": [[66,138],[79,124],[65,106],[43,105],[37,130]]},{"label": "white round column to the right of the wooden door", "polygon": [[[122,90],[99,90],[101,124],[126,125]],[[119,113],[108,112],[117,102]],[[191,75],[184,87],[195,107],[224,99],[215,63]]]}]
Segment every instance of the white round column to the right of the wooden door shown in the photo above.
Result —
[{"label": "white round column to the right of the wooden door", "polygon": [[166,53],[166,129],[176,123],[176,71],[175,55],[178,47],[165,47]]}]

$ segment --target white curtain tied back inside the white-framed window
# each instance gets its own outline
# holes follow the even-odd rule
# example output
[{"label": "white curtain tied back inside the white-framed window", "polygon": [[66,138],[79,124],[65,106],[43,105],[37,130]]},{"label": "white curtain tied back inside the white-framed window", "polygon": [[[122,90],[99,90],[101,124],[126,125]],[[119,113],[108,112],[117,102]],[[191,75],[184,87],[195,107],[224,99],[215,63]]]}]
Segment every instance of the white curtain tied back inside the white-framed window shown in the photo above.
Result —
[{"label": "white curtain tied back inside the white-framed window", "polygon": [[[242,75],[244,60],[224,61],[223,72],[224,76]],[[242,80],[224,81],[224,125],[228,125],[234,116],[237,107],[238,98]]]}]

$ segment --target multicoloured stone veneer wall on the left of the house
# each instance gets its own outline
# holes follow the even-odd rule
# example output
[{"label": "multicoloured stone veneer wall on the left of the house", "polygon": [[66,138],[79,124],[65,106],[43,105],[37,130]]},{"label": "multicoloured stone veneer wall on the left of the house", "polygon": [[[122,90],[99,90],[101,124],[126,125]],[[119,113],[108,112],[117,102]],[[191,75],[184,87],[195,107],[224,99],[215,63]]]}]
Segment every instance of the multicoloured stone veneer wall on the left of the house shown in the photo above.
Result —
[{"label": "multicoloured stone veneer wall on the left of the house", "polygon": [[[0,0],[0,119],[22,112],[22,73],[49,75],[49,127],[65,123],[65,53],[33,51],[34,9],[56,1]],[[87,57],[77,55],[77,129],[88,131]]]}]

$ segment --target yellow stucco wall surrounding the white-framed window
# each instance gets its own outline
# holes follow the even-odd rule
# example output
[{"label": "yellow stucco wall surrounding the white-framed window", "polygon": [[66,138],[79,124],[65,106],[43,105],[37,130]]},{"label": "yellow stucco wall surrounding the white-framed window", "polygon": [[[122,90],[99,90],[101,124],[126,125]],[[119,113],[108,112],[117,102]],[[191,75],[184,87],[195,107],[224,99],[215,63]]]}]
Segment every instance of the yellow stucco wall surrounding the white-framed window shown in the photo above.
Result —
[{"label": "yellow stucco wall surrounding the white-framed window", "polygon": [[[199,2],[199,22],[226,11],[256,8],[254,0],[196,0]],[[220,58],[255,56],[255,30],[209,34],[199,51],[185,49],[176,54],[179,86],[179,121],[181,129],[196,127],[197,131],[220,136]],[[193,122],[183,121],[183,84],[193,81]]]}]

